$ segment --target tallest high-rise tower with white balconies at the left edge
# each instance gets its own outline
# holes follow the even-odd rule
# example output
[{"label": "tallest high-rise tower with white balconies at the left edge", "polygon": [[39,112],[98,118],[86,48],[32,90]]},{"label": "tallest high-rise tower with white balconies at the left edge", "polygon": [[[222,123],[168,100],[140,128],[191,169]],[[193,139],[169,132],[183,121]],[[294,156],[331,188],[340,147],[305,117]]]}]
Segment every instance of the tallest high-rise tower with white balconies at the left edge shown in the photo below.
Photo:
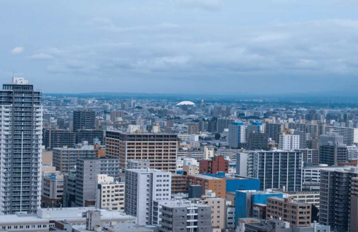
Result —
[{"label": "tallest high-rise tower with white balconies at the left edge", "polygon": [[42,92],[20,77],[0,90],[0,214],[41,203]]}]

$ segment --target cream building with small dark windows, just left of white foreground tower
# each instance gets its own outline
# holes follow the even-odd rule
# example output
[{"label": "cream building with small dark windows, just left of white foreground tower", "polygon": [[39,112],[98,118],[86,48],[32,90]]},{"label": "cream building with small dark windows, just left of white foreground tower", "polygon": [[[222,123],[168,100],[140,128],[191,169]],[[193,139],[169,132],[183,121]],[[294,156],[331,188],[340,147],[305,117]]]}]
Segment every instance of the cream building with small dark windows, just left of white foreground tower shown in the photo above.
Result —
[{"label": "cream building with small dark windows, just left of white foreground tower", "polygon": [[96,178],[96,207],[112,211],[124,211],[124,182],[114,177],[98,174]]}]

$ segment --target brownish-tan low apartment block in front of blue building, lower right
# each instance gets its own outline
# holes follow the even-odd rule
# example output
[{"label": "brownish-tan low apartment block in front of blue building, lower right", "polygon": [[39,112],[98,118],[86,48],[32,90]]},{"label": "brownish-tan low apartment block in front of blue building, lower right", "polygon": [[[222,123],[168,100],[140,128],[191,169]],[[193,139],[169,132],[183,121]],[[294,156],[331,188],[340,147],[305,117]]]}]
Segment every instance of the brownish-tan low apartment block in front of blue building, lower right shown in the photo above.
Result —
[{"label": "brownish-tan low apartment block in front of blue building, lower right", "polygon": [[311,203],[295,201],[292,197],[267,197],[266,220],[287,221],[292,227],[311,225]]}]

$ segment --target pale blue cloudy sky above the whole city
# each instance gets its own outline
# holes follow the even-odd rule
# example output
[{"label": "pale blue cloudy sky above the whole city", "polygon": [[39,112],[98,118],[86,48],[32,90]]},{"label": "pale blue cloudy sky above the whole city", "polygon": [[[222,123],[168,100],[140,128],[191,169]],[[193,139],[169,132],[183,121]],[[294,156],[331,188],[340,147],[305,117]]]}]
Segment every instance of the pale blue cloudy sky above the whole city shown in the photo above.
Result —
[{"label": "pale blue cloudy sky above the whole city", "polygon": [[0,80],[45,93],[356,91],[356,0],[0,0]]}]

